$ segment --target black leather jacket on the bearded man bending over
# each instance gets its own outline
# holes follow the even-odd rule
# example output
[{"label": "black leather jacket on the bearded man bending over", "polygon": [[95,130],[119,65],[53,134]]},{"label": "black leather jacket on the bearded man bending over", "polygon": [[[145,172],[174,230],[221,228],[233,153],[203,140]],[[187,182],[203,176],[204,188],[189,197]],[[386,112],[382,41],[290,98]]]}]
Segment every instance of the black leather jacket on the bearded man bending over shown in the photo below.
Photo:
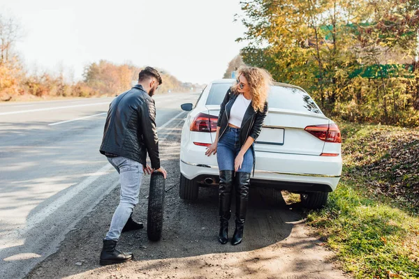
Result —
[{"label": "black leather jacket on the bearded man bending over", "polygon": [[110,103],[100,151],[130,158],[142,165],[146,164],[148,152],[152,168],[160,168],[156,106],[140,84]]}]

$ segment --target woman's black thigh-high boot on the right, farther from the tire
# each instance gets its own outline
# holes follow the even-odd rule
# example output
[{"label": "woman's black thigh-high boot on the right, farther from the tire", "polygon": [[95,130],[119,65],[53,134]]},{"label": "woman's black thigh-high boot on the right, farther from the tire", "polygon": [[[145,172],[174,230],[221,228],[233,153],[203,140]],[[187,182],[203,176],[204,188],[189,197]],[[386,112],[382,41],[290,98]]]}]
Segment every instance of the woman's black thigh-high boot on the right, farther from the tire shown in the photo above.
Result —
[{"label": "woman's black thigh-high boot on the right, farther from the tire", "polygon": [[237,245],[243,239],[244,220],[246,219],[247,202],[249,201],[250,174],[247,172],[236,172],[234,186],[236,194],[236,227],[231,244]]}]

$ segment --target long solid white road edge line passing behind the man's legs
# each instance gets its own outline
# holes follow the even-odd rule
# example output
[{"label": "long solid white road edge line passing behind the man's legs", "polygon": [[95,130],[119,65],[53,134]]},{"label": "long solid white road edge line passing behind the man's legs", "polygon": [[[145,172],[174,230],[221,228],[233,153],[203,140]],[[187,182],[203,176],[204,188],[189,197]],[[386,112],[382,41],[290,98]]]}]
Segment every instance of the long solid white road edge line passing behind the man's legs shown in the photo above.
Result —
[{"label": "long solid white road edge line passing behind the man's legs", "polygon": [[[184,114],[184,113],[185,112],[180,112],[176,116],[172,117],[172,119],[170,119],[169,121],[164,123],[162,126],[157,128],[157,131],[159,131],[163,128],[166,128],[166,126],[168,126],[170,123],[172,123],[172,121],[178,120],[178,117],[180,115]],[[172,130],[173,129],[175,129],[175,128],[172,128]],[[160,142],[163,142],[165,139],[166,139],[166,137],[163,138]],[[108,174],[110,169],[112,169],[112,165],[110,165],[110,164],[104,165],[97,172],[94,172],[93,174],[90,174],[82,182],[78,183],[76,186],[74,186],[73,188],[68,190],[65,193],[65,195],[61,195],[61,197],[55,199],[54,202],[51,202],[50,204],[45,206],[45,208],[43,210],[41,210],[41,211],[35,213],[34,215],[30,216],[29,218],[27,218],[27,223],[26,223],[26,225],[23,229],[17,229],[14,232],[10,233],[8,236],[6,236],[6,238],[1,239],[0,250],[3,249],[3,248],[8,248],[8,247],[14,246],[13,241],[15,241],[19,236],[28,232],[30,229],[35,227],[38,223],[41,223],[43,220],[45,220],[45,218],[50,216],[51,213],[53,213],[54,211],[59,209],[60,206],[62,206],[63,204],[65,204],[66,202],[71,200],[73,197],[75,197],[75,195],[78,195],[78,193],[80,193],[82,190],[84,190],[85,188],[90,186],[91,183],[94,183],[94,181],[96,181],[96,179],[98,179],[100,176],[102,176],[103,174]]]}]

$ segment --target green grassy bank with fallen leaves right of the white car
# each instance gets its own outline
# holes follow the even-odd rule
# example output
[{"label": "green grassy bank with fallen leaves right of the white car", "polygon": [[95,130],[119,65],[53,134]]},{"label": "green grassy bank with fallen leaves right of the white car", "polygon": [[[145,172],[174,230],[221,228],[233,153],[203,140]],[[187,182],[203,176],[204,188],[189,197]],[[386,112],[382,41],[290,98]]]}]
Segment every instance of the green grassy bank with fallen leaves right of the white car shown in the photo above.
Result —
[{"label": "green grassy bank with fallen leaves right of the white car", "polygon": [[419,278],[419,131],[339,128],[342,178],[309,225],[355,278]]}]

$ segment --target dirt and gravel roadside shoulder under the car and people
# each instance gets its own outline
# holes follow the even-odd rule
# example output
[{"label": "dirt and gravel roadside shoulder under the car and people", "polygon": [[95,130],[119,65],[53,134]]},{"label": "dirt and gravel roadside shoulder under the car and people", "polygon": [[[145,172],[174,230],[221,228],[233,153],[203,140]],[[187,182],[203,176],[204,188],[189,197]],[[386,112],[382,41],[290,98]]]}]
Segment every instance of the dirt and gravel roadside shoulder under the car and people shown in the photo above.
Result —
[{"label": "dirt and gravel roadside shoulder under the car and people", "polygon": [[[126,232],[118,248],[133,252],[135,259],[113,266],[98,264],[102,239],[119,201],[117,187],[27,278],[348,278],[333,263],[333,253],[309,233],[299,204],[273,200],[264,190],[251,190],[243,242],[218,243],[216,188],[200,188],[196,202],[179,198],[182,124],[161,144],[162,165],[168,171],[161,241],[149,241],[146,229]],[[144,223],[148,185],[146,176],[133,215]],[[232,220],[230,236],[233,226]]]}]

